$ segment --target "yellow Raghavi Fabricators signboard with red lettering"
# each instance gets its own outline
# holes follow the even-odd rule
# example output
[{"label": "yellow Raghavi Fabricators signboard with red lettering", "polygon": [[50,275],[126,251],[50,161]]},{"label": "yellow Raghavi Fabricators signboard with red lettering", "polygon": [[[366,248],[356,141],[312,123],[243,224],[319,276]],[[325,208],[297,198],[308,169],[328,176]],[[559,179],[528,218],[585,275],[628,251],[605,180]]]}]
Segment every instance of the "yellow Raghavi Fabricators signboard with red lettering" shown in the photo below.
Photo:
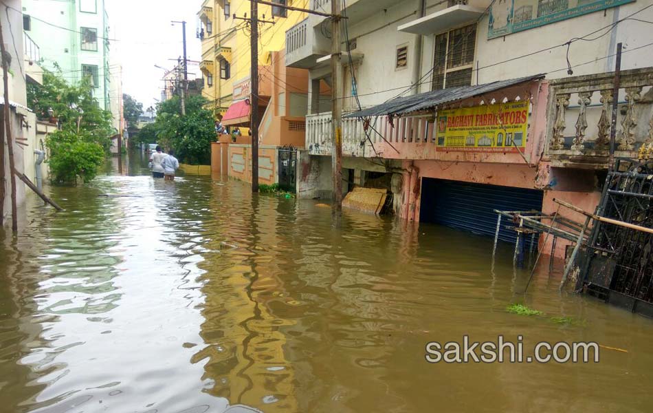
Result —
[{"label": "yellow Raghavi Fabricators signboard with red lettering", "polygon": [[513,152],[526,146],[529,101],[438,112],[438,147],[447,151]]}]

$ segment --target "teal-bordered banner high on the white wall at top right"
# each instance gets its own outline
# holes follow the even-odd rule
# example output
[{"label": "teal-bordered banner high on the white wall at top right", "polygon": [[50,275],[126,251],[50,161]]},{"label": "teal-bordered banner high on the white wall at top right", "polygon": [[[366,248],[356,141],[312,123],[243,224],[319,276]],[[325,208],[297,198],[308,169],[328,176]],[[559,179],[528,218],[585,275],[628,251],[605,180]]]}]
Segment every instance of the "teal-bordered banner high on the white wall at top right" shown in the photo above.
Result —
[{"label": "teal-bordered banner high on the white wall at top right", "polygon": [[632,3],[635,0],[498,0],[492,4],[487,38],[522,32]]}]

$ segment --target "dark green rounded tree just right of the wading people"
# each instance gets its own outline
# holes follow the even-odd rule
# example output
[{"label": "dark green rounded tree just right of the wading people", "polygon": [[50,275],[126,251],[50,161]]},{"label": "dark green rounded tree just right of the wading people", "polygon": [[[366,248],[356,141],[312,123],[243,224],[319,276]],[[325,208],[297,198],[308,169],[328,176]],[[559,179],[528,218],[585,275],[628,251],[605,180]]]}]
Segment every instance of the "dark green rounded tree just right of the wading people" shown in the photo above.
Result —
[{"label": "dark green rounded tree just right of the wading people", "polygon": [[174,149],[180,162],[190,165],[210,165],[211,142],[215,140],[215,123],[208,103],[202,96],[186,99],[186,116],[181,115],[181,102],[175,96],[157,105],[153,129],[157,143]]}]

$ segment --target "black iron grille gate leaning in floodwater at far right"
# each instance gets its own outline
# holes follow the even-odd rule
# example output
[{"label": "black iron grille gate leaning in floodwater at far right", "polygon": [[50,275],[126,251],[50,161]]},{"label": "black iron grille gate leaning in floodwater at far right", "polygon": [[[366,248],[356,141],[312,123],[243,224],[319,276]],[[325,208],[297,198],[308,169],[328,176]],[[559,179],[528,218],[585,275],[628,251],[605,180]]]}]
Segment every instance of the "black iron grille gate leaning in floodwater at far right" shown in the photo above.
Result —
[{"label": "black iron grille gate leaning in floodwater at far right", "polygon": [[[653,227],[653,162],[619,160],[608,173],[597,215]],[[653,236],[596,222],[577,287],[591,295],[653,315]],[[639,308],[638,308],[639,307]]]}]

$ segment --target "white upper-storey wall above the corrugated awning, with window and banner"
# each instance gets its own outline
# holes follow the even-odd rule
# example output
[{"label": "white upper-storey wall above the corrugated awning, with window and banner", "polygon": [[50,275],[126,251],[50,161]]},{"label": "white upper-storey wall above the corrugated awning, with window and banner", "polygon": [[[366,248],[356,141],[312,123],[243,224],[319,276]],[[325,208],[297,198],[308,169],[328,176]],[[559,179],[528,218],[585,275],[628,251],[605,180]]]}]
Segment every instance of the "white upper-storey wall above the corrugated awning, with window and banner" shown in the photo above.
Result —
[{"label": "white upper-storey wall above the corrugated awning, with window and banner", "polygon": [[[343,14],[348,17],[341,35],[344,96],[352,95],[344,43],[348,39],[363,107],[401,92],[406,96],[538,73],[546,73],[547,78],[568,76],[567,54],[574,75],[610,72],[619,42],[625,47],[623,69],[653,63],[649,44],[653,26],[620,21],[631,16],[652,21],[650,1],[349,0],[344,4]],[[331,1],[312,0],[311,8],[331,12]],[[329,19],[316,15],[289,30],[286,65],[311,70],[313,81],[329,81],[330,30]],[[576,38],[586,41],[573,41],[567,51],[565,43]],[[414,83],[419,87],[410,89]],[[345,109],[353,107],[355,100],[346,100]]]}]

